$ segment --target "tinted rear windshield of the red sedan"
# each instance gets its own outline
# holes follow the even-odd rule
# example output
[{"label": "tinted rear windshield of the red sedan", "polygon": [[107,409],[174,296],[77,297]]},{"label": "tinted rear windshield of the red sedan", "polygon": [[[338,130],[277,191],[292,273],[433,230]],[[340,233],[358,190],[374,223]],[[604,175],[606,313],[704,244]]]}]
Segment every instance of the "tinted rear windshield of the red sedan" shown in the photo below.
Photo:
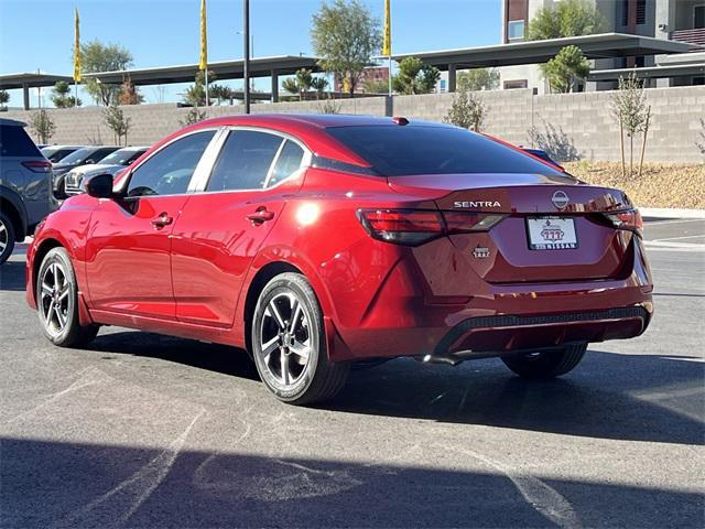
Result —
[{"label": "tinted rear windshield of the red sedan", "polygon": [[453,127],[330,127],[326,131],[382,176],[454,173],[563,175],[481,134]]}]

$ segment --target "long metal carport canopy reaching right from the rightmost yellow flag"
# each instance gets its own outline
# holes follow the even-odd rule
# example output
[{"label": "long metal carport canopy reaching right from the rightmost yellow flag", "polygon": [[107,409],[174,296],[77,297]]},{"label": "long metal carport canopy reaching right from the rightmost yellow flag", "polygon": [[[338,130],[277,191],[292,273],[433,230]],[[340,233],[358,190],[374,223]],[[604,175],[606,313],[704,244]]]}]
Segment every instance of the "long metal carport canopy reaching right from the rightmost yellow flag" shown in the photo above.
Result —
[{"label": "long metal carport canopy reaching right from the rightmost yellow flag", "polygon": [[[553,58],[562,47],[575,45],[587,58],[660,55],[698,51],[699,46],[684,42],[665,41],[651,36],[625,33],[599,33],[545,41],[523,41],[492,46],[444,50],[438,52],[392,55],[395,61],[419,57],[438,69],[463,69],[541,64]],[[378,57],[380,60],[386,57]],[[452,66],[452,68],[451,68]]]}]

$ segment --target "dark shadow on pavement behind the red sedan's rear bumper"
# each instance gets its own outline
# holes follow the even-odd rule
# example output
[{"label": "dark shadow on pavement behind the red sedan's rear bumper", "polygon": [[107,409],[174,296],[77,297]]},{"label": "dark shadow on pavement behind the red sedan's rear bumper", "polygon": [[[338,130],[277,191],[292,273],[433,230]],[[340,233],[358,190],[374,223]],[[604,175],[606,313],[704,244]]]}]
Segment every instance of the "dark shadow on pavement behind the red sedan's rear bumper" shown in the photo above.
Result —
[{"label": "dark shadow on pavement behind the red sedan's rear bumper", "polygon": [[499,359],[457,367],[398,359],[356,371],[326,408],[628,441],[703,444],[705,364],[693,357],[588,352],[551,381]]}]

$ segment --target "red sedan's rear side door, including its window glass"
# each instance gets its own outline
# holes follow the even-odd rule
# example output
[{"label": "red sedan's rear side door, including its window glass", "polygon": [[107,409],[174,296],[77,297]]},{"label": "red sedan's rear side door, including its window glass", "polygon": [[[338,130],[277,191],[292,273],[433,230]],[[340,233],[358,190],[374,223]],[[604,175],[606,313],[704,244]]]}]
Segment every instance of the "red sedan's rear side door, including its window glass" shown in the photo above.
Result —
[{"label": "red sedan's rear side door, including its window glass", "polygon": [[172,236],[180,321],[232,325],[242,280],[310,159],[294,139],[269,131],[234,129],[224,138],[213,173]]}]

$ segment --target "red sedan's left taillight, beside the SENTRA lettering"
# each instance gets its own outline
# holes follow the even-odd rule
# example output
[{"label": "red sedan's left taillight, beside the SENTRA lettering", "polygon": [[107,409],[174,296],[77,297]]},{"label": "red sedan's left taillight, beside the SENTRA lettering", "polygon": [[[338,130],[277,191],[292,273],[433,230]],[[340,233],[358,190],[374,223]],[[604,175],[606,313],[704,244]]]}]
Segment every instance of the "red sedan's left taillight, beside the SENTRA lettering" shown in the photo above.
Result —
[{"label": "red sedan's left taillight, beside the SENTRA lettering", "polygon": [[358,218],[375,239],[419,246],[443,235],[486,231],[503,215],[424,209],[358,209]]}]

